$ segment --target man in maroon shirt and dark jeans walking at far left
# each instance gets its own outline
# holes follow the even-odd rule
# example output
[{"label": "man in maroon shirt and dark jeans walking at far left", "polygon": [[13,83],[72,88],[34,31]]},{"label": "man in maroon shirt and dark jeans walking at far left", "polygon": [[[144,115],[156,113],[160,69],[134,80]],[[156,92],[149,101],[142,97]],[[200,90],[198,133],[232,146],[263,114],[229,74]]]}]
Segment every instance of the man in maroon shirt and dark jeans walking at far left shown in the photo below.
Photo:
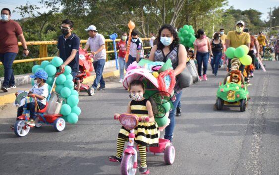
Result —
[{"label": "man in maroon shirt and dark jeans walking at far left", "polygon": [[10,88],[16,88],[12,63],[18,53],[17,37],[22,43],[23,54],[28,56],[29,51],[25,42],[20,25],[10,19],[11,13],[8,8],[1,10],[0,20],[0,60],[4,66],[4,81],[1,90],[8,92]]}]

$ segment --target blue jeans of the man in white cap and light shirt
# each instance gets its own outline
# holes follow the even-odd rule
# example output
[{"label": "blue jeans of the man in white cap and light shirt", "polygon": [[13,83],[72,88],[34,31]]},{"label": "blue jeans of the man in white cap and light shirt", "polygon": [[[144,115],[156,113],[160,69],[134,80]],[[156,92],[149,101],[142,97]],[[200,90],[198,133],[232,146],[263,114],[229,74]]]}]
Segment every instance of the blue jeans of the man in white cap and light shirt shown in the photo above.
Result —
[{"label": "blue jeans of the man in white cap and light shirt", "polygon": [[93,67],[96,73],[96,78],[92,84],[92,87],[96,90],[98,84],[100,87],[105,87],[106,82],[103,79],[103,70],[106,63],[106,59],[99,59],[98,61],[93,62]]}]

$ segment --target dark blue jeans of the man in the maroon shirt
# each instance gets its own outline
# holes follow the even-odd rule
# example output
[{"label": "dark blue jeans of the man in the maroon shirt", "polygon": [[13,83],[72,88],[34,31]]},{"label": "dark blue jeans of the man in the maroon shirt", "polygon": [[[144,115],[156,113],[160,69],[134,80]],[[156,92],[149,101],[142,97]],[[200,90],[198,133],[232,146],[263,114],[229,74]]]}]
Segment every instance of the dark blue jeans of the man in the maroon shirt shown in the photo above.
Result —
[{"label": "dark blue jeans of the man in the maroon shirt", "polygon": [[0,60],[4,66],[4,81],[2,84],[3,87],[9,87],[15,85],[12,63],[16,55],[17,55],[16,53],[11,53],[11,52],[0,54]]}]

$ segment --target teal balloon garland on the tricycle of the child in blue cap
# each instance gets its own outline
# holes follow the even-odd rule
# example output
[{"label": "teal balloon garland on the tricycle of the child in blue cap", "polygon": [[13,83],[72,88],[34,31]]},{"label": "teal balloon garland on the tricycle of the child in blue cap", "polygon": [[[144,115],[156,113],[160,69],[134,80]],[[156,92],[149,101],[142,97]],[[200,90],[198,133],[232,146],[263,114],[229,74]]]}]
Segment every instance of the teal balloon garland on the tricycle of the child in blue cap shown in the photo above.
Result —
[{"label": "teal balloon garland on the tricycle of the child in blue cap", "polygon": [[[44,60],[41,65],[34,65],[32,67],[32,73],[36,73],[39,70],[45,70],[48,73],[48,84],[49,92],[51,92],[52,85],[54,83],[54,77],[57,67],[63,64],[63,60],[59,57],[54,57],[51,62]],[[64,98],[66,103],[63,103],[61,107],[60,114],[63,115],[65,121],[69,123],[76,123],[78,121],[78,116],[81,113],[78,105],[78,92],[74,90],[73,76],[71,75],[71,67],[66,65],[64,72],[57,76],[56,78],[56,88],[55,91],[60,97]],[[31,80],[32,86],[34,85],[34,80]]]}]

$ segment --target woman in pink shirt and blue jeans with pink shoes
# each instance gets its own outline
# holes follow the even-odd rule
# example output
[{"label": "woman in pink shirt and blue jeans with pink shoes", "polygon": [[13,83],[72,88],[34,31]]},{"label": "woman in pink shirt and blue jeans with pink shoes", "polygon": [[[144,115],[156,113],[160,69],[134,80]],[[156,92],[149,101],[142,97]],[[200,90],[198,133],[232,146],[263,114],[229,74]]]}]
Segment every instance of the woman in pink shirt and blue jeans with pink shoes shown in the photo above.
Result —
[{"label": "woman in pink shirt and blue jeans with pink shoes", "polygon": [[202,64],[203,68],[203,79],[207,81],[206,71],[207,71],[207,64],[209,59],[209,54],[212,55],[211,46],[209,43],[209,39],[206,37],[204,31],[199,29],[197,34],[195,35],[197,38],[194,44],[194,59],[198,62],[198,74],[200,80],[202,80]]}]

